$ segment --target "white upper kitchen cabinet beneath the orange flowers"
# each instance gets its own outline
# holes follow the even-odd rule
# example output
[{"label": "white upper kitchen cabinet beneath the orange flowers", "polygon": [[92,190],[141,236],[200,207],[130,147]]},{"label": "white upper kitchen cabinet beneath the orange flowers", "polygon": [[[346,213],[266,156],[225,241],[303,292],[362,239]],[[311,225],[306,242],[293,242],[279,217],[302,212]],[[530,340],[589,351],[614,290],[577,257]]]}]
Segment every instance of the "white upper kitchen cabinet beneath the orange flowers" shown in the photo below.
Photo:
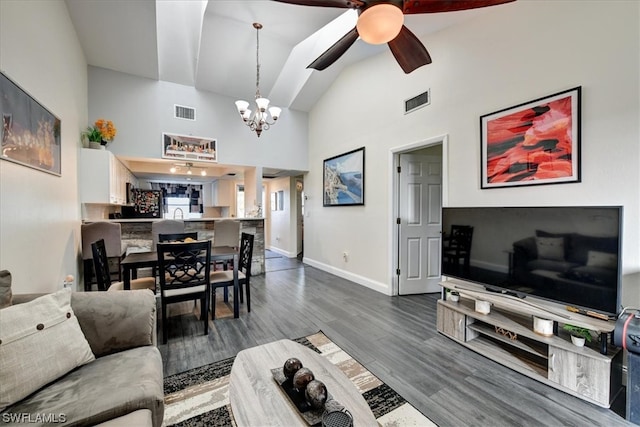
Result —
[{"label": "white upper kitchen cabinet beneath the orange flowers", "polygon": [[83,148],[79,163],[80,201],[124,205],[127,183],[136,185],[136,177],[113,153]]}]

